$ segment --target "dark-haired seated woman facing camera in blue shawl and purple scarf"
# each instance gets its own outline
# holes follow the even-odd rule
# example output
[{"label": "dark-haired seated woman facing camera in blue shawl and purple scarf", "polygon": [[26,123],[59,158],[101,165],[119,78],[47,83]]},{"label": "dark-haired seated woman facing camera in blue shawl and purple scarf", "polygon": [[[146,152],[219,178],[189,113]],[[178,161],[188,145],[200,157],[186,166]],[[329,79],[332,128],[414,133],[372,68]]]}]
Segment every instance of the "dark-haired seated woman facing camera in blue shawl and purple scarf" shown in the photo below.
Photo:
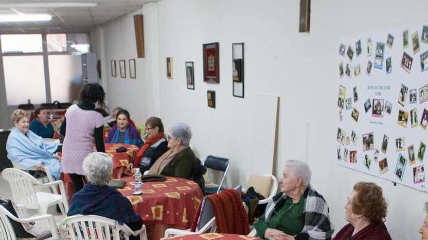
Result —
[{"label": "dark-haired seated woman facing camera in blue shawl and purple scarf", "polygon": [[108,132],[106,143],[132,144],[138,147],[143,145],[140,132],[129,124],[128,111],[119,110],[116,114],[116,122],[117,124]]}]

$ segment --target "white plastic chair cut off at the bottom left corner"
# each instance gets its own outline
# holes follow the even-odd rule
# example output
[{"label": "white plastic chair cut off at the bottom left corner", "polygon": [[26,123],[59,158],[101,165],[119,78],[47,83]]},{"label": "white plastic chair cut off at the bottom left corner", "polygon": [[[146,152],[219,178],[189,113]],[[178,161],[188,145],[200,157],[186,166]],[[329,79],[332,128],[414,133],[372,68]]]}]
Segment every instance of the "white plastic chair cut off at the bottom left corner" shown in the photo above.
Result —
[{"label": "white plastic chair cut off at the bottom left corner", "polygon": [[10,213],[6,208],[0,205],[0,239],[1,240],[17,240],[15,230],[9,220],[11,218],[18,223],[30,223],[41,220],[49,221],[49,229],[52,233],[52,239],[59,239],[58,230],[56,229],[54,216],[50,214],[44,214],[36,217],[19,219]]}]

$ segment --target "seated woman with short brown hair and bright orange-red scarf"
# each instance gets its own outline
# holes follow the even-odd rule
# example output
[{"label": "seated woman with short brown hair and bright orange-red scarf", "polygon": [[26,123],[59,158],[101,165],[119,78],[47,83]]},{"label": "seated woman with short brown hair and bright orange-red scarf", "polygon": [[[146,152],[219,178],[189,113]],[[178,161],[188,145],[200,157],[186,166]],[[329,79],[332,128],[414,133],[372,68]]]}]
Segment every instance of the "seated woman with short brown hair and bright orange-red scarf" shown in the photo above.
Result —
[{"label": "seated woman with short brown hair and bright orange-red scarf", "polygon": [[165,134],[163,134],[163,124],[159,117],[149,117],[145,121],[145,132],[147,140],[144,141],[144,145],[135,157],[134,162],[129,163],[129,170],[132,167],[138,167],[140,172],[144,173],[160,156],[168,151],[168,142]]}]

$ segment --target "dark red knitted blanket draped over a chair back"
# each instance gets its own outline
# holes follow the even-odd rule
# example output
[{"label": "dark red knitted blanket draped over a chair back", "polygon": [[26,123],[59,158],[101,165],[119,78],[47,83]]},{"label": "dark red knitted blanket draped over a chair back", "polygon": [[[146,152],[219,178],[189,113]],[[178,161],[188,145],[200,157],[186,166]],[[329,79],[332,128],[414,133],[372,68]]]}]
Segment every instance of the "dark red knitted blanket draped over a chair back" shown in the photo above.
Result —
[{"label": "dark red knitted blanket draped over a chair back", "polygon": [[[247,235],[250,233],[247,212],[242,204],[239,193],[234,189],[226,189],[219,193],[205,196],[214,208],[215,224],[218,233],[232,233]],[[201,206],[197,210],[193,220],[191,231],[196,230],[197,220],[201,211]]]}]

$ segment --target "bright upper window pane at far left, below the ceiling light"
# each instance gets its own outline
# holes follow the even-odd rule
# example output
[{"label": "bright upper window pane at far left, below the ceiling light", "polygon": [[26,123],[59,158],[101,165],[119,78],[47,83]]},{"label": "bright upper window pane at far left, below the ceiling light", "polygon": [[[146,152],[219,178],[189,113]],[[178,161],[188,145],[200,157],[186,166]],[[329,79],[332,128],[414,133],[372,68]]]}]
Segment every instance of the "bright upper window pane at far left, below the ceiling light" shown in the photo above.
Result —
[{"label": "bright upper window pane at far left, below the ceiling light", "polygon": [[1,35],[3,53],[42,52],[41,34],[4,34]]}]

